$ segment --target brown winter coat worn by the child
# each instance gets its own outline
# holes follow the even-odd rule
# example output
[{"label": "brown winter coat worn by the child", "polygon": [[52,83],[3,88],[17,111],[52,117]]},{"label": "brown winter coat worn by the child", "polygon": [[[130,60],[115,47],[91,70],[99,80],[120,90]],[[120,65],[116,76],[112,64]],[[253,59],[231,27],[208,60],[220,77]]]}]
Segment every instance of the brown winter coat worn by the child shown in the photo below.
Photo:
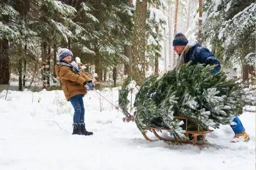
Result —
[{"label": "brown winter coat worn by the child", "polygon": [[84,88],[84,83],[91,80],[86,74],[76,74],[68,66],[55,66],[56,75],[60,78],[61,88],[68,101],[70,97],[74,97],[77,94],[87,93]]}]

